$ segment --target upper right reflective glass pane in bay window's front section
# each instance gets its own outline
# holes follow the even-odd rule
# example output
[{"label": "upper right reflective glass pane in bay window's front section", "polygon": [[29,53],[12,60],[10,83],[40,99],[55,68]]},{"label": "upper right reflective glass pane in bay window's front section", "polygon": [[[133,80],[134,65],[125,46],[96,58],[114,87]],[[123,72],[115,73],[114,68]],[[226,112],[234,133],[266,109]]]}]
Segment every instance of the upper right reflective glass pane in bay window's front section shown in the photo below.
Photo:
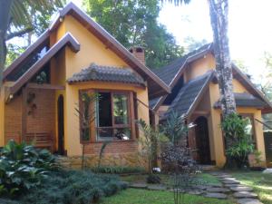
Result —
[{"label": "upper right reflective glass pane in bay window's front section", "polygon": [[128,96],[126,94],[113,95],[114,124],[128,124]]}]

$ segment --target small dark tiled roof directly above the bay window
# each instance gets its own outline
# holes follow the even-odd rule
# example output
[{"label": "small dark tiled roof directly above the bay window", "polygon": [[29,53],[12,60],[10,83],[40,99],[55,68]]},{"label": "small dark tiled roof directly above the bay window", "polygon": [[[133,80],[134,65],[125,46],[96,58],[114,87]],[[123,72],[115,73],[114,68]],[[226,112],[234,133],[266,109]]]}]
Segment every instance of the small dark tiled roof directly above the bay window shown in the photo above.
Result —
[{"label": "small dark tiled roof directly above the bay window", "polygon": [[101,66],[92,63],[80,73],[74,73],[67,80],[68,83],[83,83],[90,81],[102,81],[112,83],[131,83],[145,87],[145,83],[138,73],[130,68]]}]

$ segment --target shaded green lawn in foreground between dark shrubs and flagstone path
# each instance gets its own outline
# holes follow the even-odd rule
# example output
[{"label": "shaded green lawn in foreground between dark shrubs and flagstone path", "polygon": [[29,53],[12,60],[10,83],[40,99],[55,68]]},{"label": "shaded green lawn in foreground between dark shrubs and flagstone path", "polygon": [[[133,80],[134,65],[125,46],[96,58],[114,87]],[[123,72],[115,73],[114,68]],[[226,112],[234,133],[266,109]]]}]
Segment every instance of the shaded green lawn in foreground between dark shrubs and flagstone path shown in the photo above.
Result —
[{"label": "shaded green lawn in foreground between dark shrubs and flagstone path", "polygon": [[[170,191],[148,189],[126,189],[112,197],[102,199],[102,204],[171,204],[174,203]],[[229,200],[207,199],[200,196],[185,195],[186,204],[231,204]]]}]

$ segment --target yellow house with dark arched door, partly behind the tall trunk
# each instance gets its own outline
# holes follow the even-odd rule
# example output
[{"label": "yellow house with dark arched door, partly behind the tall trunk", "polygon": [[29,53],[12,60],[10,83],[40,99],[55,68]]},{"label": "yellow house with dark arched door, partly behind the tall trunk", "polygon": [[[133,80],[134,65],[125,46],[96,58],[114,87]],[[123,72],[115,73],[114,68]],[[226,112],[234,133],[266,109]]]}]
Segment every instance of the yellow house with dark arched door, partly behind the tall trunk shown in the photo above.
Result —
[{"label": "yellow house with dark arched door, partly behind the tall trunk", "polygon": [[[188,135],[195,159],[201,164],[222,167],[226,161],[225,141],[220,129],[219,84],[212,44],[186,54],[155,73],[170,86],[171,93],[150,100],[151,122],[158,124],[170,112],[183,115],[187,123],[196,124]],[[235,64],[233,76],[238,113],[248,120],[248,133],[257,151],[262,152],[262,160],[266,160],[261,116],[271,112],[272,105]]]}]

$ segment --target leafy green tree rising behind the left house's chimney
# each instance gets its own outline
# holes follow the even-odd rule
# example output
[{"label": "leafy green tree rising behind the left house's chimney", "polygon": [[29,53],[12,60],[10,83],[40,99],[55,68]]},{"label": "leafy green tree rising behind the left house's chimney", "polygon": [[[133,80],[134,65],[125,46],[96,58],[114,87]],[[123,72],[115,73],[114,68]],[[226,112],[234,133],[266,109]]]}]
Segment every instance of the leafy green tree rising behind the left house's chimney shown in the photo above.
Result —
[{"label": "leafy green tree rising behind the left house's chimney", "polygon": [[141,45],[146,64],[158,68],[180,57],[183,48],[173,35],[158,24],[160,2],[157,0],[84,0],[87,13],[122,45]]}]

